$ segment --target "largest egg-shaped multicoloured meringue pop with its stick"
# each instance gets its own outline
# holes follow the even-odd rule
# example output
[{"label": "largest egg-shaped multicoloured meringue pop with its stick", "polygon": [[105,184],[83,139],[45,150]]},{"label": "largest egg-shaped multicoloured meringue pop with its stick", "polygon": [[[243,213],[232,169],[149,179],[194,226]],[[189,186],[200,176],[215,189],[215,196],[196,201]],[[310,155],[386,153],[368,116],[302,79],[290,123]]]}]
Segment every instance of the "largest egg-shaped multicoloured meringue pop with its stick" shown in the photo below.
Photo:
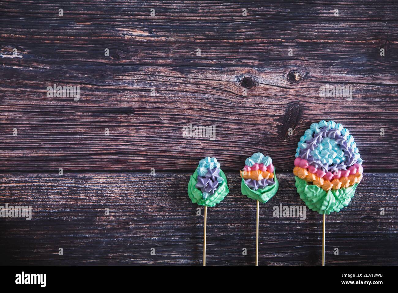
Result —
[{"label": "largest egg-shaped multicoloured meringue pop with its stick", "polygon": [[312,123],[296,149],[297,193],[310,210],[323,215],[322,265],[325,265],[326,214],[347,206],[363,175],[362,159],[353,136],[340,123]]}]

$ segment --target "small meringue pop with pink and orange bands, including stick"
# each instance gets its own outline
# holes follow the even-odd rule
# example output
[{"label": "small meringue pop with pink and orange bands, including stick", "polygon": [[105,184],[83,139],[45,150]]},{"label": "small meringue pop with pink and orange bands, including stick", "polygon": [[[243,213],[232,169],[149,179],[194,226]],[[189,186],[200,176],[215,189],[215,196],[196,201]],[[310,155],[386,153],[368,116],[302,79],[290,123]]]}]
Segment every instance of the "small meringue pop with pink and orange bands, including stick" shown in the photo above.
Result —
[{"label": "small meringue pop with pink and orange bands, including stick", "polygon": [[278,191],[279,183],[275,174],[272,159],[262,153],[254,153],[245,161],[242,177],[241,192],[249,199],[257,201],[256,213],[256,265],[258,265],[258,210],[259,202],[266,203]]}]

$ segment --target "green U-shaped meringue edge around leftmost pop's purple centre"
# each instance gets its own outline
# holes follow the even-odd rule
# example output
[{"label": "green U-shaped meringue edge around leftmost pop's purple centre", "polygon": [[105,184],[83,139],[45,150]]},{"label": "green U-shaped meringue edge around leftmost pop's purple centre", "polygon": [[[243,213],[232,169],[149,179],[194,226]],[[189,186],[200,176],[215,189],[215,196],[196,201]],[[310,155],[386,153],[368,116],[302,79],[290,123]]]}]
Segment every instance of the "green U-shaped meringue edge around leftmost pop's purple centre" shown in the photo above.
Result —
[{"label": "green U-shaped meringue edge around leftmost pop's purple centre", "polygon": [[211,207],[217,205],[224,199],[224,197],[226,197],[226,195],[229,193],[229,189],[227,186],[225,174],[224,172],[222,172],[221,169],[219,175],[222,177],[222,179],[224,179],[224,181],[219,184],[215,193],[207,197],[207,199],[203,199],[201,190],[195,187],[198,177],[197,171],[195,171],[195,173],[191,175],[188,183],[188,196],[191,199],[192,203],[197,203],[200,206]]}]

